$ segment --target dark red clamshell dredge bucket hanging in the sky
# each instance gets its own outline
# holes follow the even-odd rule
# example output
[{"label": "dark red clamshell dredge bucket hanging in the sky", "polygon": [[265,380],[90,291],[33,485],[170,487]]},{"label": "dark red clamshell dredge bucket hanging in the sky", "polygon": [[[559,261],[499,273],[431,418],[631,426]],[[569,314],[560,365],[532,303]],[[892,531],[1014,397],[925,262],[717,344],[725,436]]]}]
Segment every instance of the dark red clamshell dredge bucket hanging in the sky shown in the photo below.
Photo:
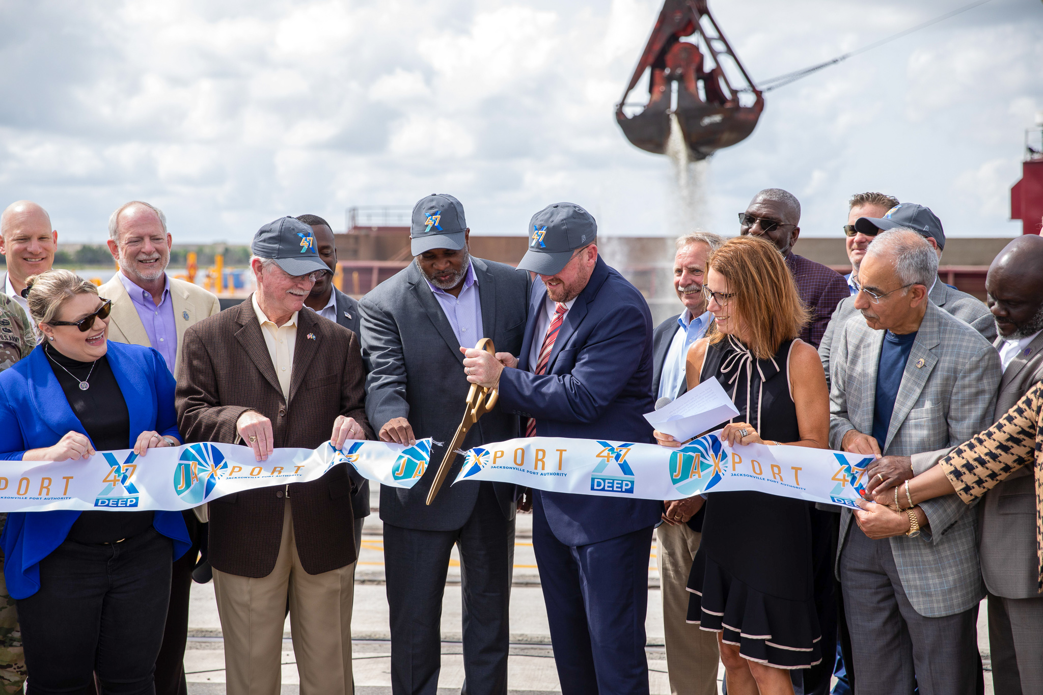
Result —
[{"label": "dark red clamshell dredge bucket hanging in the sky", "polygon": [[[649,71],[649,101],[627,96]],[[733,83],[726,72],[730,72]],[[632,144],[663,154],[671,115],[677,116],[690,159],[704,159],[745,140],[757,125],[765,99],[738,61],[706,0],[665,0],[645,52],[634,69],[615,119]]]}]

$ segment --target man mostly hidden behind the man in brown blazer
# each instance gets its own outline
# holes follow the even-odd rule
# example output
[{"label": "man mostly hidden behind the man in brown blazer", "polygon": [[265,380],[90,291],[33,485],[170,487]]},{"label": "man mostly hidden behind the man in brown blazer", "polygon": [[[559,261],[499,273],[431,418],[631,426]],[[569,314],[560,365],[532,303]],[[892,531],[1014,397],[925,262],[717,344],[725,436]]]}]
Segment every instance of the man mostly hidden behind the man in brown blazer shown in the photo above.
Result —
[{"label": "man mostly hidden behind the man in brown blazer", "polygon": [[[305,306],[358,336],[359,302],[333,283],[333,276],[337,272],[337,243],[333,228],[318,215],[301,215],[296,219],[312,228],[319,257],[330,267],[329,275],[315,280],[311,294],[305,299]],[[362,549],[362,524],[365,523],[363,520],[369,516],[369,480],[364,479],[351,495],[351,511],[355,513],[355,552],[358,553]]]}]

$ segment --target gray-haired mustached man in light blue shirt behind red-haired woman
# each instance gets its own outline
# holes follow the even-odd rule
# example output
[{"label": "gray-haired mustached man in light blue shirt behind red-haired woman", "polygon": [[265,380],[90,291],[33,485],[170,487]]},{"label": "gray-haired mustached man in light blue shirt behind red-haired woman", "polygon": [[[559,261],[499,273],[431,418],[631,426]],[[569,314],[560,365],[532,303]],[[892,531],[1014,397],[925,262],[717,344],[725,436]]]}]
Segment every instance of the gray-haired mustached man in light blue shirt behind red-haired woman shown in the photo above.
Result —
[{"label": "gray-haired mustached man in light blue shirt behind red-haired woman", "polygon": [[[656,399],[674,399],[688,390],[684,378],[688,348],[713,323],[703,297],[706,259],[722,244],[724,239],[709,231],[696,231],[677,240],[674,291],[684,312],[666,319],[652,332],[652,395]],[[664,502],[662,523],[656,528],[666,671],[673,695],[717,693],[717,636],[685,621],[688,572],[703,529],[703,510],[693,514],[696,499],[699,497]]]}]

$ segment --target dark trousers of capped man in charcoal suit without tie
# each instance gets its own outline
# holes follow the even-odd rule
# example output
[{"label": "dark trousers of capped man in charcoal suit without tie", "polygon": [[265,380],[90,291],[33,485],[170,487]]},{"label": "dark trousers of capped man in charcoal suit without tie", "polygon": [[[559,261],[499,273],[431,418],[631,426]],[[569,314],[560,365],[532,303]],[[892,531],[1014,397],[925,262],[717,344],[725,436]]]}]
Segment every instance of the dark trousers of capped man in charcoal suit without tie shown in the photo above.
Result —
[{"label": "dark trousers of capped man in charcoal suit without tie", "polygon": [[492,485],[481,485],[462,528],[384,524],[393,695],[435,695],[438,689],[442,594],[454,544],[460,549],[463,595],[463,692],[507,695],[514,521],[504,518]]}]

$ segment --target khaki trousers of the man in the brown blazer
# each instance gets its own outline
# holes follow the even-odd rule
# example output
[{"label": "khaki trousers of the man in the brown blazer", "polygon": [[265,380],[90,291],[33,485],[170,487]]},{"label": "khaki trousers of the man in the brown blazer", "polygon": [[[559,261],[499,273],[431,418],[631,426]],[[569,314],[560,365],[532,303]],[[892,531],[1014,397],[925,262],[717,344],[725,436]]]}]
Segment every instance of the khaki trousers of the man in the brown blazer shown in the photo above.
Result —
[{"label": "khaki trousers of the man in the brown blazer", "polygon": [[280,695],[287,601],[300,695],[350,694],[354,574],[355,563],[321,574],[305,572],[287,499],[271,574],[251,578],[214,570],[227,695]]}]

